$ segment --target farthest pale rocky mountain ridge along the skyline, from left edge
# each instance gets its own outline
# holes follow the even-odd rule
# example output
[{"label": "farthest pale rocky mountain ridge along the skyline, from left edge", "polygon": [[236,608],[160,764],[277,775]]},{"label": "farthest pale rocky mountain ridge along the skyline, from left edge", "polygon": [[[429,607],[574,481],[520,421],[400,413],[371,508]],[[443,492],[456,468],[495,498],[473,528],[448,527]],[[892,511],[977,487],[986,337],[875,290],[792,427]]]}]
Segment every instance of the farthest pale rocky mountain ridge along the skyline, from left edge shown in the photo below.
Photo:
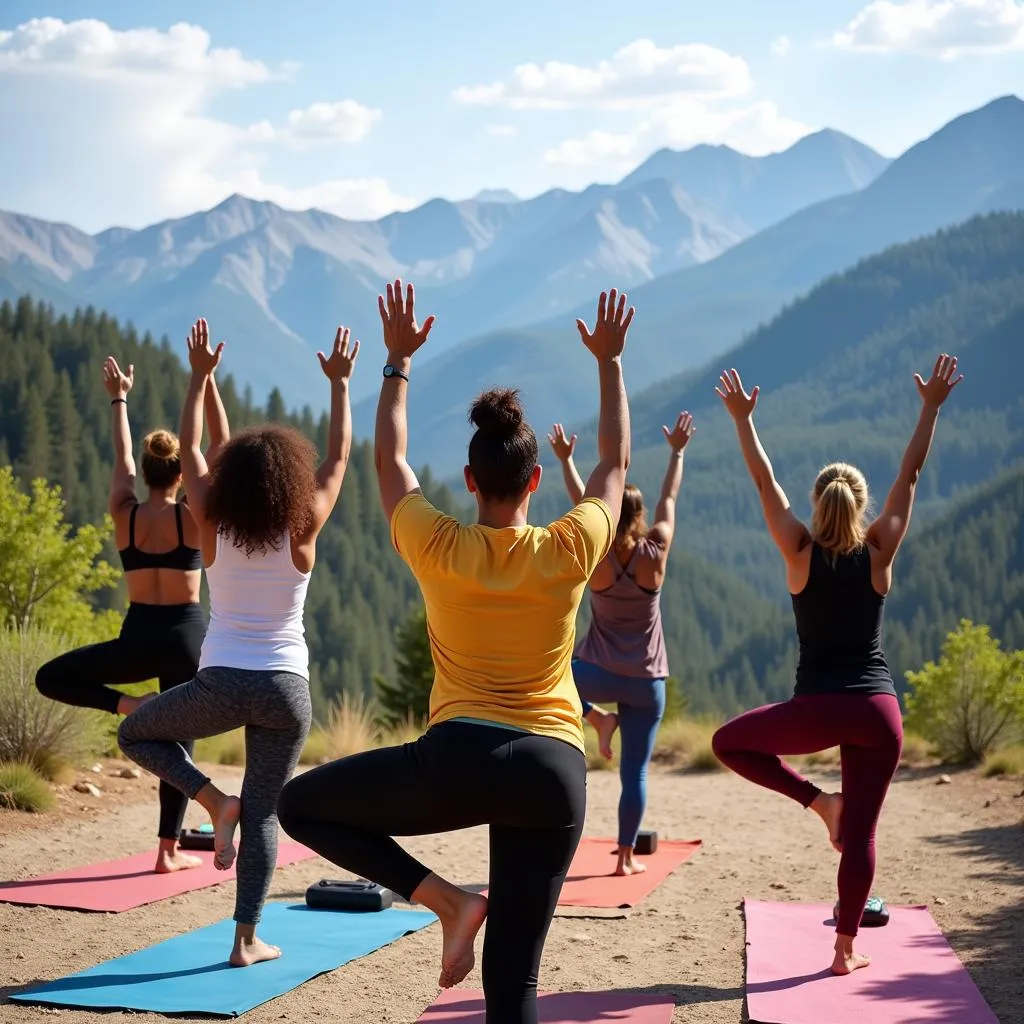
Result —
[{"label": "farthest pale rocky mountain ridge along the skyline, from left edge", "polygon": [[[28,291],[59,308],[89,303],[172,338],[205,315],[231,346],[228,358],[238,353],[240,379],[299,403],[319,372],[312,353],[339,317],[357,336],[377,334],[375,299],[389,278],[415,281],[438,314],[431,358],[480,331],[566,312],[608,280],[632,287],[712,259],[809,199],[862,187],[888,164],[818,132],[769,157],[662,151],[618,184],[528,200],[485,189],[373,222],[241,196],[95,236],[0,213],[0,297]],[[780,187],[786,177],[799,187]],[[354,393],[375,386],[362,375]]]}]

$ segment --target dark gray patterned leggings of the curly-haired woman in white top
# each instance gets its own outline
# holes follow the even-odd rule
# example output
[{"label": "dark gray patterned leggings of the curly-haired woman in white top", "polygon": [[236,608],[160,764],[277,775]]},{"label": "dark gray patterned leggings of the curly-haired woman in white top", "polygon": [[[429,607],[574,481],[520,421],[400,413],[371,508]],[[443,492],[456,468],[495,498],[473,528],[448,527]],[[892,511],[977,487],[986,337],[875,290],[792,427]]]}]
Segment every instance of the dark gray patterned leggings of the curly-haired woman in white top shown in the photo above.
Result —
[{"label": "dark gray patterned leggings of the curly-haired woman in white top", "polygon": [[278,798],[309,732],[309,683],[291,672],[201,669],[132,712],[118,730],[125,756],[186,797],[210,781],[178,740],[246,727],[246,773],[234,920],[259,922],[278,863]]}]

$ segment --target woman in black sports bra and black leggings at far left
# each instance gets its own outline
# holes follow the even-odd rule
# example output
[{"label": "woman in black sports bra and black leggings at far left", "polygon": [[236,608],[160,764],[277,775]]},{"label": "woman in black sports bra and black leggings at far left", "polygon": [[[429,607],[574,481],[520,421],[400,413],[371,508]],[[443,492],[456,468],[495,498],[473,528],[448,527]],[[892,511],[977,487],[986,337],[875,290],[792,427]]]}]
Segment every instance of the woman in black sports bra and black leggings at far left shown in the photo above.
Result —
[{"label": "woman in black sports bra and black leggings at far left", "polygon": [[[114,356],[103,364],[115,449],[110,512],[129,599],[121,635],[61,654],[36,675],[36,686],[44,696],[120,715],[130,714],[155,694],[128,696],[114,686],[157,679],[163,692],[188,682],[196,675],[206,636],[206,615],[199,603],[203,574],[199,529],[188,506],[177,501],[181,460],[178,439],[170,431],[154,430],[143,438],[142,478],[148,496],[139,502],[135,495],[127,398],[133,380],[134,367],[124,374]],[[227,439],[227,420],[212,380],[206,394],[210,459]],[[191,753],[190,743],[182,745]],[[173,786],[160,784],[158,872],[202,863],[178,849],[186,804]]]}]

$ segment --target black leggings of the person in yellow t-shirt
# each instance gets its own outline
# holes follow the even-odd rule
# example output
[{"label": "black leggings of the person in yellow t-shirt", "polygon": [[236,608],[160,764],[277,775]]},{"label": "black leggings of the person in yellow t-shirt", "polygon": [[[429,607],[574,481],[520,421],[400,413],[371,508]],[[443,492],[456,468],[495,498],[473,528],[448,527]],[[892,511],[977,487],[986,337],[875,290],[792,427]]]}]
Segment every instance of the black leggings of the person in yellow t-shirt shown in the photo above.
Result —
[{"label": "black leggings of the person in yellow t-shirt", "polygon": [[392,836],[489,825],[486,1024],[537,1024],[541,954],[586,809],[587,765],[574,746],[445,722],[414,743],[297,776],[278,813],[289,836],[407,900],[430,869]]}]

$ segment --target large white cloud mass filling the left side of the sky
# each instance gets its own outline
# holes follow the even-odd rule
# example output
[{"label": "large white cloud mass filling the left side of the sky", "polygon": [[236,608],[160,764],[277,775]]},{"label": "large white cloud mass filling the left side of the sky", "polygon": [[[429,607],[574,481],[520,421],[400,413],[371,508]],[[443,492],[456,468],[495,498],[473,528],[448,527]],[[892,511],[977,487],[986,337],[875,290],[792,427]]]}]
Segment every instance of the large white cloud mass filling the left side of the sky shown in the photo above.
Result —
[{"label": "large white cloud mass filling the left side of the sky", "polygon": [[378,178],[296,188],[268,170],[280,151],[359,141],[379,111],[343,99],[280,124],[210,115],[224,91],[293,71],[214,47],[190,25],[120,31],[47,17],[0,32],[0,137],[18,140],[18,161],[0,161],[4,205],[87,229],[140,226],[234,191],[356,217],[409,205]]}]

